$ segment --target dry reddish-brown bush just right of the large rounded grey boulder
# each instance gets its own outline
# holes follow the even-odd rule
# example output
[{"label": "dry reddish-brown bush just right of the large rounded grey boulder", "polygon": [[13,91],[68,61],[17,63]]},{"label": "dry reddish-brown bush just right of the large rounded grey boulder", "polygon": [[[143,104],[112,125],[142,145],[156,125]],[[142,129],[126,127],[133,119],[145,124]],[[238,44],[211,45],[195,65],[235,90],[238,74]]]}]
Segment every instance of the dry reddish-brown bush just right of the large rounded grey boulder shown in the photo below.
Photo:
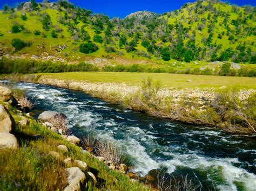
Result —
[{"label": "dry reddish-brown bush just right of the large rounded grey boulder", "polygon": [[51,123],[57,130],[62,130],[63,135],[69,136],[71,134],[71,128],[68,127],[68,121],[60,113],[50,118],[48,122]]}]

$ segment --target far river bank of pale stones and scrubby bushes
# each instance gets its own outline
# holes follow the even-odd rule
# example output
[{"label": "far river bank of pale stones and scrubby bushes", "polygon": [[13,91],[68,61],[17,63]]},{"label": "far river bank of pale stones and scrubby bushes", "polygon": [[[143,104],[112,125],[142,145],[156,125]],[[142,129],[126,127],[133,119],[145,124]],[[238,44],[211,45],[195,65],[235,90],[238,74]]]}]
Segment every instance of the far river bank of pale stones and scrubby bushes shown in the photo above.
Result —
[{"label": "far river bank of pale stones and scrubby bushes", "polygon": [[[41,74],[6,75],[2,76],[2,79],[80,90],[94,97],[103,98],[110,103],[122,104],[126,108],[145,111],[156,117],[191,124],[217,126],[230,133],[255,133],[255,116],[245,114],[245,110],[248,110],[245,107],[248,105],[252,109],[249,112],[255,112],[253,109],[254,89],[230,90],[226,87],[217,90],[214,88],[172,89],[162,88],[149,80],[144,81],[143,87],[128,86],[126,83],[62,80],[52,76]],[[219,110],[221,111],[219,112]],[[233,123],[237,119],[242,123]]]}]

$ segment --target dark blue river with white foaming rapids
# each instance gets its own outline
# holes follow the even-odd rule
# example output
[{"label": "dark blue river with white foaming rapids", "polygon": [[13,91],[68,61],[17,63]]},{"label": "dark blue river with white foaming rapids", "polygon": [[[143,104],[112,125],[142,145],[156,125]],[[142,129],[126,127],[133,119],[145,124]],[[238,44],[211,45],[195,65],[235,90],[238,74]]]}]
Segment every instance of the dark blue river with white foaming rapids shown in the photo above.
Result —
[{"label": "dark blue river with white foaming rapids", "polygon": [[112,105],[83,92],[18,82],[44,110],[68,116],[76,135],[92,133],[123,147],[134,172],[162,169],[174,177],[188,174],[203,190],[256,190],[256,137],[229,135],[206,126],[168,121]]}]

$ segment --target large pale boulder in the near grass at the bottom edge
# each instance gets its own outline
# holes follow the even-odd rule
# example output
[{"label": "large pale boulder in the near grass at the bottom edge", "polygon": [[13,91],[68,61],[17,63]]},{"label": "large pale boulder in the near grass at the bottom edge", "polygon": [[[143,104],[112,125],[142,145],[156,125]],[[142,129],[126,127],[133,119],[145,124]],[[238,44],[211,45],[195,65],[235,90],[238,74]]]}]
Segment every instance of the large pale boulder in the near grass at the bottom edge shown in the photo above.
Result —
[{"label": "large pale boulder in the near grass at the bottom edge", "polygon": [[66,168],[66,173],[69,185],[64,191],[80,190],[80,185],[83,185],[86,179],[85,174],[78,167]]}]

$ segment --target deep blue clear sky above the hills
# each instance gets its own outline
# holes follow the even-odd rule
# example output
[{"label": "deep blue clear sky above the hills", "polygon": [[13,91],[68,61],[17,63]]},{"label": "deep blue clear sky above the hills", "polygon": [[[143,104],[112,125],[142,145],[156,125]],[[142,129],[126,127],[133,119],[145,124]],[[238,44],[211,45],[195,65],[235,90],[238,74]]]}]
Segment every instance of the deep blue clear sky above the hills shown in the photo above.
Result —
[{"label": "deep blue clear sky above the hills", "polygon": [[[0,0],[0,8],[4,4],[15,6],[17,3],[28,0]],[[42,2],[43,0],[37,0]],[[79,5],[82,8],[90,9],[96,13],[104,13],[112,17],[124,18],[136,11],[152,11],[164,13],[179,9],[186,2],[193,0],[70,0],[71,3]],[[228,0],[228,2],[237,5],[256,6],[256,0]]]}]

